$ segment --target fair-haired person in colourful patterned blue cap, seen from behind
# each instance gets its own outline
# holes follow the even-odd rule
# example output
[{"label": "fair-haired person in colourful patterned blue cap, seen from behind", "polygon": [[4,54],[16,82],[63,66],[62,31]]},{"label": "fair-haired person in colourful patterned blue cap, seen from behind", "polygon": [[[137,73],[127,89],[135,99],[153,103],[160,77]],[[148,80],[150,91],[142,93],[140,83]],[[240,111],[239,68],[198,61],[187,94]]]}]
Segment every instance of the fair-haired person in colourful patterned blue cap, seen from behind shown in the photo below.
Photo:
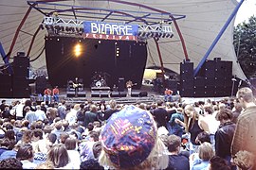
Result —
[{"label": "fair-haired person in colourful patterned blue cap, seen from behind", "polygon": [[154,118],[136,106],[127,106],[109,118],[101,130],[101,143],[101,166],[111,169],[165,169],[168,166],[165,145],[158,138]]}]

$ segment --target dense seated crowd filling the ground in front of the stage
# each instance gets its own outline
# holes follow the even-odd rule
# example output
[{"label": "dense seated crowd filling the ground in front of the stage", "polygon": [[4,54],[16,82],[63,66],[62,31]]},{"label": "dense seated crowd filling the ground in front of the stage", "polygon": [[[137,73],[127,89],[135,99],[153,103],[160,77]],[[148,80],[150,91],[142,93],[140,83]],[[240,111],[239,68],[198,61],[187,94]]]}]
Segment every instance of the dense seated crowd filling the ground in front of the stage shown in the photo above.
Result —
[{"label": "dense seated crowd filling the ground in front of the stage", "polygon": [[256,169],[250,150],[232,155],[236,124],[244,111],[238,105],[236,98],[134,105],[114,99],[48,106],[2,101],[0,167]]}]

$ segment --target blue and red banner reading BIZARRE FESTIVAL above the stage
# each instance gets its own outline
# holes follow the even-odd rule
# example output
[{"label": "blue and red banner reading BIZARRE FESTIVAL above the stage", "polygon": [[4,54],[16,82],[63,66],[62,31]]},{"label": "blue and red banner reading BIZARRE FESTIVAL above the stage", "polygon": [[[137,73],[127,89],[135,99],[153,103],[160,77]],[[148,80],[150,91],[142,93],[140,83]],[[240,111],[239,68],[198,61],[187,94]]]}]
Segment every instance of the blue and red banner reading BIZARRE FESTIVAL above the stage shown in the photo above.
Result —
[{"label": "blue and red banner reading BIZARRE FESTIVAL above the stage", "polygon": [[137,41],[137,25],[122,25],[103,22],[83,22],[83,38]]}]

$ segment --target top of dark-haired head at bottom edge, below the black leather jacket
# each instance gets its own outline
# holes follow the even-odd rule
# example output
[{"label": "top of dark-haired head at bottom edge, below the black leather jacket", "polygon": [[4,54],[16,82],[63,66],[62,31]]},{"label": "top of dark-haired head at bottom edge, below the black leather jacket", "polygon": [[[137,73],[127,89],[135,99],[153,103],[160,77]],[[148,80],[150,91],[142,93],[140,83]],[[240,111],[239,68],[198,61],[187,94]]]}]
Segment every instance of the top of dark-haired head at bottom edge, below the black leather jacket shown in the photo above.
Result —
[{"label": "top of dark-haired head at bottom edge, below the black leather jacket", "polygon": [[230,170],[228,162],[218,156],[213,156],[210,159],[210,168],[209,170]]}]

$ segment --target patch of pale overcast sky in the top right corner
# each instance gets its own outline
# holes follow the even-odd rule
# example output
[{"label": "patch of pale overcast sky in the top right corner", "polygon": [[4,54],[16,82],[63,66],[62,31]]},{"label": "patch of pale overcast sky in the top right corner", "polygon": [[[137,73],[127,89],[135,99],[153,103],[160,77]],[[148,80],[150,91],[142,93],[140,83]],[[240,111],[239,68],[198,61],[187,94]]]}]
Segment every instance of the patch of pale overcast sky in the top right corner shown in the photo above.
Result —
[{"label": "patch of pale overcast sky in the top right corner", "polygon": [[245,0],[237,12],[235,26],[245,20],[247,21],[253,14],[256,16],[256,0]]}]

